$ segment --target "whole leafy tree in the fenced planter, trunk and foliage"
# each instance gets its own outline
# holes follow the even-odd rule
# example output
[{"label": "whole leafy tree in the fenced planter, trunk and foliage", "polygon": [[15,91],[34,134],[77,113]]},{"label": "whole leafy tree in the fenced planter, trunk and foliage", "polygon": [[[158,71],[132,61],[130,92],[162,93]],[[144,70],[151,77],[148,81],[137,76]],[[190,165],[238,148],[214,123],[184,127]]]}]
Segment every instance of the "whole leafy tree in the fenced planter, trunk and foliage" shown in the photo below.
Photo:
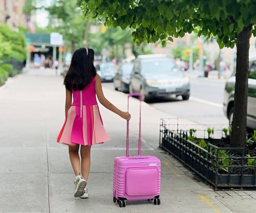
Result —
[{"label": "whole leafy tree in the fenced planter, trunk and foliage", "polygon": [[256,0],[78,0],[85,17],[133,29],[137,43],[183,37],[216,38],[220,48],[237,45],[231,147],[246,146],[249,39],[256,36]]}]

